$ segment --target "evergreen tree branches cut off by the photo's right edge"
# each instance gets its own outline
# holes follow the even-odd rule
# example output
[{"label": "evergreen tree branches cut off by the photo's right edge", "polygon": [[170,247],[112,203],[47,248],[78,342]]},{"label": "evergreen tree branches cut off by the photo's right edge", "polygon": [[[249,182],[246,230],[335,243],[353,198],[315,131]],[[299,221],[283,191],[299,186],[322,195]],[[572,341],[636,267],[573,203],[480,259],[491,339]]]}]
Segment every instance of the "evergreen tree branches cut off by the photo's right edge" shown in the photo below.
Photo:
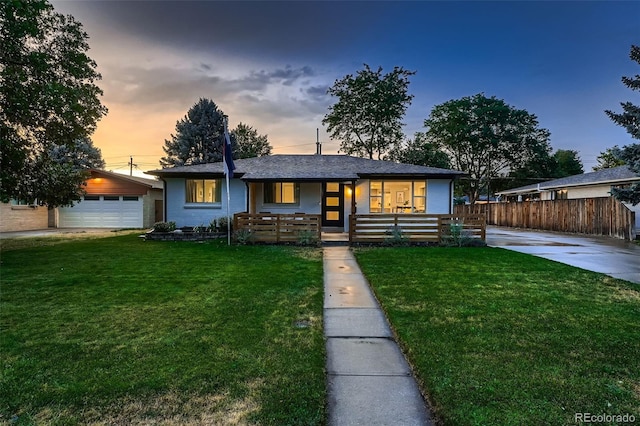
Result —
[{"label": "evergreen tree branches cut off by the photo's right edge", "polygon": [[[640,47],[632,45],[629,57],[640,64]],[[622,77],[622,83],[631,90],[640,90],[640,75],[634,77]],[[631,102],[623,102],[622,113],[605,111],[614,123],[624,127],[627,133],[634,139],[640,139],[640,107]],[[618,149],[614,148],[615,156],[629,165],[629,168],[640,176],[640,144],[630,144]],[[613,188],[611,194],[621,201],[632,203],[634,206],[640,203],[640,184],[636,183],[630,188]]]}]

